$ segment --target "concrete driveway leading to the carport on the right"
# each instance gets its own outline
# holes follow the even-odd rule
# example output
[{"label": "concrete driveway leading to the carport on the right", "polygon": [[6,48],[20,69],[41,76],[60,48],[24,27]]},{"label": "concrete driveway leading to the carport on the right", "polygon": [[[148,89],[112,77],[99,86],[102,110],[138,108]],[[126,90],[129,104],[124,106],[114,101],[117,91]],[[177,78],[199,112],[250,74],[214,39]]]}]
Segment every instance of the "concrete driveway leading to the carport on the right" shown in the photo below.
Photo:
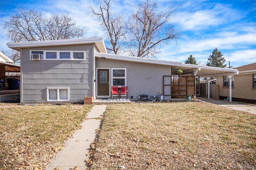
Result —
[{"label": "concrete driveway leading to the carport on the right", "polygon": [[226,107],[226,108],[230,108],[230,109],[234,109],[237,111],[245,111],[245,112],[249,112],[252,113],[253,115],[256,115],[256,105],[253,104],[239,104],[239,103],[230,103],[228,101],[222,101],[222,100],[213,100],[213,99],[207,99],[207,98],[203,98],[203,97],[197,97],[197,99],[201,100],[201,101],[205,101],[208,103],[212,103],[215,105],[219,105],[222,107]]}]

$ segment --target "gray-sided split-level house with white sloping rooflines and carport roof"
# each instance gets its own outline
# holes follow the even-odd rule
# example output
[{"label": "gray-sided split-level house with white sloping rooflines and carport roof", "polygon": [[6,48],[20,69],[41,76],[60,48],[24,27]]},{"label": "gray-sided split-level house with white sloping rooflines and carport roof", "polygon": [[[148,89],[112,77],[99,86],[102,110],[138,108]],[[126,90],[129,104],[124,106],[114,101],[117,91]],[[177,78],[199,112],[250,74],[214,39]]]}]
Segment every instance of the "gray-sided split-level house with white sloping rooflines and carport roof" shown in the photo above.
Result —
[{"label": "gray-sided split-level house with white sloping rooflines and carport roof", "polygon": [[[138,100],[141,94],[154,96],[159,92],[168,100],[186,97],[188,92],[196,97],[196,77],[238,74],[236,69],[108,54],[103,38],[7,45],[21,53],[21,103],[105,99],[111,97],[111,86],[127,86],[131,100]],[[177,69],[183,70],[182,75],[177,75]],[[182,83],[179,77],[190,78]]]}]

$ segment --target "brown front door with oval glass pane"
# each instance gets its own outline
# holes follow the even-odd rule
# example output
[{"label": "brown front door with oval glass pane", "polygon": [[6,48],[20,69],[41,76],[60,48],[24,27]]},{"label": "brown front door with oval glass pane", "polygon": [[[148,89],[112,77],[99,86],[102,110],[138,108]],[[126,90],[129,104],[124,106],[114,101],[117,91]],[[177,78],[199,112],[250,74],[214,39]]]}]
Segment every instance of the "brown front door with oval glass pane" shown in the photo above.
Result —
[{"label": "brown front door with oval glass pane", "polygon": [[109,69],[97,71],[97,95],[110,96],[109,94]]}]

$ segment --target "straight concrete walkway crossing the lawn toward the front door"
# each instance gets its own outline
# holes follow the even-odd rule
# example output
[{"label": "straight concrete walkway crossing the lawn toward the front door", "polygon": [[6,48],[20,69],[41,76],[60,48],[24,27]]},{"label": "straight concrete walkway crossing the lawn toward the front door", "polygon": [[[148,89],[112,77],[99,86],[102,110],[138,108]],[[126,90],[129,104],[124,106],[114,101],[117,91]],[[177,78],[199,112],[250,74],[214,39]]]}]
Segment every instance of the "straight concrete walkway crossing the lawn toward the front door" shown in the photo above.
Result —
[{"label": "straight concrete walkway crossing the lawn toward the front door", "polygon": [[100,128],[103,113],[106,111],[107,105],[94,105],[88,113],[86,121],[81,125],[82,129],[76,131],[72,138],[66,141],[64,150],[60,150],[56,157],[52,158],[49,166],[45,170],[70,170],[78,167],[78,170],[86,170],[86,160],[90,150],[90,144],[96,138],[96,129]]}]

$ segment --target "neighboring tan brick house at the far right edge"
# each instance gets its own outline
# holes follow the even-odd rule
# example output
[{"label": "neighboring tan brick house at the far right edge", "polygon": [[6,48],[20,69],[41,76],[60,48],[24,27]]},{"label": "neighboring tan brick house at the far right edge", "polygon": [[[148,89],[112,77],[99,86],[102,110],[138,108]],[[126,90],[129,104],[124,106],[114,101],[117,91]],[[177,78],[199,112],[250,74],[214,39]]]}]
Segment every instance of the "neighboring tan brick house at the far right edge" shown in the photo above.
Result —
[{"label": "neighboring tan brick house at the far right edge", "polygon": [[[239,75],[232,79],[232,101],[256,103],[256,63],[236,67]],[[227,76],[217,77],[220,85],[220,99],[229,97],[229,81]]]}]

